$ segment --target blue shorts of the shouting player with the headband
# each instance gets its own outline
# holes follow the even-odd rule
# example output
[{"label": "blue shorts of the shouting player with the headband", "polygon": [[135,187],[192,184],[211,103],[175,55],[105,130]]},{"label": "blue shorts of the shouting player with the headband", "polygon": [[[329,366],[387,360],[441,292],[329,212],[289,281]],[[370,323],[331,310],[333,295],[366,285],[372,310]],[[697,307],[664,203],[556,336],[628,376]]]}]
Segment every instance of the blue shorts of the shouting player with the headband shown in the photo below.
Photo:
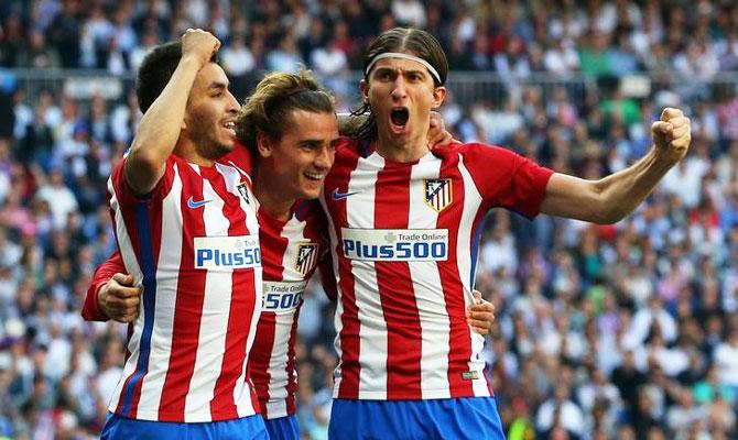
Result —
[{"label": "blue shorts of the shouting player with the headband", "polygon": [[501,439],[493,397],[428,400],[334,399],[332,440]]}]

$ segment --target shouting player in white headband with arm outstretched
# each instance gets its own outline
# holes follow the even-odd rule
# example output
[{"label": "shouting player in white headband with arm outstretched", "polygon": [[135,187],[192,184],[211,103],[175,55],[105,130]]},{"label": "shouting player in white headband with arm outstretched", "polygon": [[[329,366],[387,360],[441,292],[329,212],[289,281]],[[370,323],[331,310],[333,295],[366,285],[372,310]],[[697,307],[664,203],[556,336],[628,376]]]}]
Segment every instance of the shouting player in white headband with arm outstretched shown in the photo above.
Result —
[{"label": "shouting player in white headband with arm outstretched", "polygon": [[464,319],[485,215],[615,222],[685,155],[690,120],[665,109],[645,157],[584,180],[489,145],[430,153],[448,65],[427,32],[386,31],[363,70],[359,112],[371,116],[338,145],[321,196],[338,280],[329,438],[503,439],[482,338]]}]

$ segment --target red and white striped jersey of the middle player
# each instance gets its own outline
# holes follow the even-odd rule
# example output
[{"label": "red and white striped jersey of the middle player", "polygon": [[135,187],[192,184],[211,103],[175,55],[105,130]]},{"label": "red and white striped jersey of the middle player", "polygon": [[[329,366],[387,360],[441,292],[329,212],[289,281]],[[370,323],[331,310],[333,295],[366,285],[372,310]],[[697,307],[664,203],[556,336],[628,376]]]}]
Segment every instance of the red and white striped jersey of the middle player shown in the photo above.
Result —
[{"label": "red and white striped jersey of the middle player", "polygon": [[318,262],[326,260],[328,246],[325,216],[316,200],[297,201],[287,221],[260,209],[259,226],[264,292],[249,375],[261,415],[274,419],[296,411],[295,340],[302,294]]}]

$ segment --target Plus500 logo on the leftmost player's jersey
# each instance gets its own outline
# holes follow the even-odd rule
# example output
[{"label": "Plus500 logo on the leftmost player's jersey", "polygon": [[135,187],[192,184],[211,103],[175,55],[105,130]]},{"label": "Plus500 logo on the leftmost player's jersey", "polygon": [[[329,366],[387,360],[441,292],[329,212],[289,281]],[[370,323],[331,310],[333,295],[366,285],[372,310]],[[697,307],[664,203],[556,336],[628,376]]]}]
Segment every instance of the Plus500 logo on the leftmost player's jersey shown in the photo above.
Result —
[{"label": "Plus500 logo on the leftmost player's jersey", "polygon": [[258,235],[196,237],[195,268],[236,270],[261,267]]}]

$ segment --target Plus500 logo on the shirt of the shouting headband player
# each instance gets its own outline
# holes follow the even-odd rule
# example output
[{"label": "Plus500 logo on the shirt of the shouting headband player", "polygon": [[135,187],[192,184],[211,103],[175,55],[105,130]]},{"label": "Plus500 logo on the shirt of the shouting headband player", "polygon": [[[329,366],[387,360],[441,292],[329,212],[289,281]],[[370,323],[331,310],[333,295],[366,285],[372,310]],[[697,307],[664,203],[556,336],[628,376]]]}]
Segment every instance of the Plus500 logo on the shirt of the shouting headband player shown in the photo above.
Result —
[{"label": "Plus500 logo on the shirt of the shouting headband player", "polygon": [[341,229],[344,255],[362,261],[446,261],[446,229]]}]

